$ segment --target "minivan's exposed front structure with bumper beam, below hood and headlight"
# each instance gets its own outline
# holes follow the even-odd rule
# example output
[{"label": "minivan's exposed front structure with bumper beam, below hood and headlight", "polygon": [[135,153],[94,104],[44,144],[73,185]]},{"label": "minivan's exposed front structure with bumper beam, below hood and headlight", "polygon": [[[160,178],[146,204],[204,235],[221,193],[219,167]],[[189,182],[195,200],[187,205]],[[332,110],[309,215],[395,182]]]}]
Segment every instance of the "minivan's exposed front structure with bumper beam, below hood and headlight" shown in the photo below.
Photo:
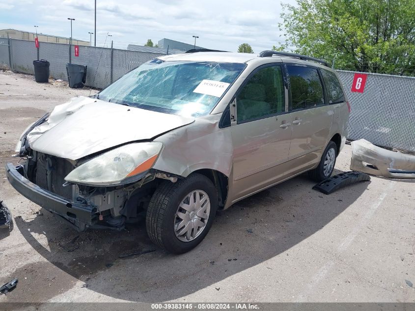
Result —
[{"label": "minivan's exposed front structure with bumper beam, below hood and headlight", "polygon": [[[82,165],[82,164],[81,164]],[[19,166],[6,164],[10,184],[23,196],[62,217],[77,230],[110,228],[121,230],[125,223],[145,217],[150,198],[162,179],[177,176],[146,170],[135,181],[116,186],[88,186],[65,180],[80,167],[76,161],[31,150]]]}]

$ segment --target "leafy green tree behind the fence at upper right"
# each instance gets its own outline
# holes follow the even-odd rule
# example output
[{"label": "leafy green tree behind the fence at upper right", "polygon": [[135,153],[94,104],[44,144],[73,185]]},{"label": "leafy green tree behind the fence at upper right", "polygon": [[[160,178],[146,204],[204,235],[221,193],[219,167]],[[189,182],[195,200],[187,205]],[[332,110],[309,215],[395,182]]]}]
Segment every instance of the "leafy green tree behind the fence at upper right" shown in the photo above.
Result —
[{"label": "leafy green tree behind the fence at upper right", "polygon": [[275,50],[335,61],[337,68],[415,73],[414,0],[297,0],[283,4]]}]

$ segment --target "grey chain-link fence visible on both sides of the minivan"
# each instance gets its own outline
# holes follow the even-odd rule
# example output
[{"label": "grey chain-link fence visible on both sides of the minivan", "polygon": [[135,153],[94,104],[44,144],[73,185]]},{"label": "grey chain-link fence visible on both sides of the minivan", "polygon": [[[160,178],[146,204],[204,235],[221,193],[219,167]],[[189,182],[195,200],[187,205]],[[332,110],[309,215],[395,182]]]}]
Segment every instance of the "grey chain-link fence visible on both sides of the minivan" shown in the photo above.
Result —
[{"label": "grey chain-link fence visible on both sides of the minivan", "polygon": [[[146,61],[164,54],[39,42],[39,59],[50,62],[51,76],[67,81],[66,64],[87,65],[86,85],[105,88]],[[33,41],[0,38],[0,65],[34,74]],[[352,92],[356,72],[338,70],[352,113],[349,139],[415,151],[415,78],[367,73],[363,93]]]}]

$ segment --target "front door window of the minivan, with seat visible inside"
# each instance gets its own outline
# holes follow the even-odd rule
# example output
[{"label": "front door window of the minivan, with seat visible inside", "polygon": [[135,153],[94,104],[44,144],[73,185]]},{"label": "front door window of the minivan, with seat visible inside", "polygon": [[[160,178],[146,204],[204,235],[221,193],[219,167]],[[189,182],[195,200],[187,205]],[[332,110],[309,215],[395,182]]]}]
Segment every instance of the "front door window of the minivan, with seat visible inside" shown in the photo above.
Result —
[{"label": "front door window of the minivan, with seat visible inside", "polygon": [[236,97],[238,122],[284,112],[284,96],[281,67],[258,70]]}]

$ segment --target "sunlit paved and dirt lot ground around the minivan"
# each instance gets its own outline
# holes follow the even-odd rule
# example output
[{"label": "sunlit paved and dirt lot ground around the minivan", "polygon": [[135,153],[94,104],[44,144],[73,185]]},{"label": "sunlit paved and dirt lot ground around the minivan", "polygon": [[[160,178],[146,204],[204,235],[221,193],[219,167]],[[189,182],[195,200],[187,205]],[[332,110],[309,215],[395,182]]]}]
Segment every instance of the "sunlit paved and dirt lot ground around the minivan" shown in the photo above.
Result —
[{"label": "sunlit paved and dirt lot ground around the minivan", "polygon": [[28,124],[89,93],[0,73],[0,199],[14,220],[0,229],[0,283],[19,278],[0,302],[415,302],[414,181],[372,177],[326,196],[299,176],[218,214],[184,255],[157,249],[143,223],[74,231],[19,195],[4,163]]}]

